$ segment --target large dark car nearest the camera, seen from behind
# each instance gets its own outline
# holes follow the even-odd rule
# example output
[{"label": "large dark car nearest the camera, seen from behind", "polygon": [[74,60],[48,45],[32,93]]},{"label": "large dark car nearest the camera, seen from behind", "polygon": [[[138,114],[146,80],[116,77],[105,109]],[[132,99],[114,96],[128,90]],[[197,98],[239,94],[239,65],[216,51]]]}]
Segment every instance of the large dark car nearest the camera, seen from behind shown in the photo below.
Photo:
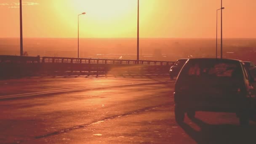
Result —
[{"label": "large dark car nearest the camera, seen from behind", "polygon": [[175,83],[175,119],[196,111],[235,112],[240,124],[249,123],[255,99],[243,61],[232,59],[189,59]]}]

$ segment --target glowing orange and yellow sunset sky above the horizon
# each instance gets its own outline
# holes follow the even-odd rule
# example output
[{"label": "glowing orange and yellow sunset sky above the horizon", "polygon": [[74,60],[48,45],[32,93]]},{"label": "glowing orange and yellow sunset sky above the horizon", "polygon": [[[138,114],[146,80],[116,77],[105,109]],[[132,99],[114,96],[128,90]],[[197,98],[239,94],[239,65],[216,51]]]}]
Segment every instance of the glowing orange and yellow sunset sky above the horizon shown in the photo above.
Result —
[{"label": "glowing orange and yellow sunset sky above the horizon", "polygon": [[[136,37],[137,0],[23,2],[24,37],[77,37],[82,12],[80,37]],[[19,37],[18,4],[0,0],[0,37]],[[224,38],[256,38],[256,0],[223,0],[223,7]],[[140,0],[140,37],[214,38],[218,8],[220,0]]]}]

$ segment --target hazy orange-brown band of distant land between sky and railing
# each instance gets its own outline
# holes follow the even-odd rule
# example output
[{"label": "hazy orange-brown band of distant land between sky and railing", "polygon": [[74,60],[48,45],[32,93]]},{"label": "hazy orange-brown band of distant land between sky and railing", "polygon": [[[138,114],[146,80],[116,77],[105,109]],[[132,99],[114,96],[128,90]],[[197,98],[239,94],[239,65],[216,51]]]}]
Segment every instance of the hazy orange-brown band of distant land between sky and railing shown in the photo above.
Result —
[{"label": "hazy orange-brown band of distant land between sky and railing", "polygon": [[[175,61],[179,58],[215,57],[214,38],[141,38],[140,55],[145,60]],[[242,49],[256,49],[256,39],[224,38],[223,55]],[[80,38],[80,57],[136,59],[136,38]],[[0,55],[19,55],[19,38],[0,38]],[[29,56],[77,57],[77,38],[24,38],[23,51]],[[218,39],[218,55],[220,39]],[[240,52],[239,52],[240,53]],[[154,56],[152,56],[154,55]]]}]

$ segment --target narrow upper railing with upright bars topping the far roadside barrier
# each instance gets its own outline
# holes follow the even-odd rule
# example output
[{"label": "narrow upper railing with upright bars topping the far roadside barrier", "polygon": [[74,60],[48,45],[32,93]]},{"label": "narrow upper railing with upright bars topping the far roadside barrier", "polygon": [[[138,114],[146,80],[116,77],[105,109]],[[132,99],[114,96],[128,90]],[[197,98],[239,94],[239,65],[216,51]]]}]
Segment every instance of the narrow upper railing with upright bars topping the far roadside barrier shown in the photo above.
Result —
[{"label": "narrow upper railing with upright bars topping the far roadside barrier", "polygon": [[63,64],[147,64],[147,65],[173,65],[173,61],[144,61],[123,59],[86,59],[66,57],[40,57],[40,63],[63,63]]}]

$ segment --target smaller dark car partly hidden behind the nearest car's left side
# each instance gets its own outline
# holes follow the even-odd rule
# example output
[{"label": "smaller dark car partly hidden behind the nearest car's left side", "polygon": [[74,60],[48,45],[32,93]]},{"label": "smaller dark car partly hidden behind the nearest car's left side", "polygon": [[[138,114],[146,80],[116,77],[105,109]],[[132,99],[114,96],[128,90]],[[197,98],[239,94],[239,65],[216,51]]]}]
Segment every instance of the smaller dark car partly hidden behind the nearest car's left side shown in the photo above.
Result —
[{"label": "smaller dark car partly hidden behind the nearest car's left side", "polygon": [[173,66],[171,66],[169,70],[170,78],[173,79],[174,77],[177,77],[179,75],[179,72],[183,65],[186,63],[188,59],[178,59]]}]

